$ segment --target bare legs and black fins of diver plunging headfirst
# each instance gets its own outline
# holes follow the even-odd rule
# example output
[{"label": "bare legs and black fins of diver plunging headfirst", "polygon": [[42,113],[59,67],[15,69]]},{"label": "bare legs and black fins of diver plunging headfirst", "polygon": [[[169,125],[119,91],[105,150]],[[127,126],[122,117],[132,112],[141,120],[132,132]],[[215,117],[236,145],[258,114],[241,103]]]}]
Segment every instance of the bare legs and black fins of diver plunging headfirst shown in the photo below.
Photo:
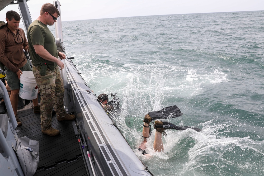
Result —
[{"label": "bare legs and black fins of diver plunging headfirst", "polygon": [[145,151],[145,149],[147,148],[146,143],[147,143],[147,139],[149,138],[151,134],[151,126],[149,123],[153,120],[155,120],[153,127],[156,130],[153,148],[156,152],[161,152],[164,150],[163,142],[162,142],[162,133],[164,137],[167,136],[165,132],[165,130],[167,129],[186,130],[188,128],[191,128],[198,132],[201,131],[201,129],[199,128],[193,128],[189,126],[176,126],[167,121],[156,120],[156,119],[175,118],[175,117],[180,117],[181,115],[183,114],[176,105],[163,108],[160,111],[149,112],[147,115],[145,115],[144,121],[143,121],[144,122],[143,131],[142,131],[142,137],[144,138],[144,140],[139,145],[138,150],[142,151],[143,155],[147,154],[147,152]]}]

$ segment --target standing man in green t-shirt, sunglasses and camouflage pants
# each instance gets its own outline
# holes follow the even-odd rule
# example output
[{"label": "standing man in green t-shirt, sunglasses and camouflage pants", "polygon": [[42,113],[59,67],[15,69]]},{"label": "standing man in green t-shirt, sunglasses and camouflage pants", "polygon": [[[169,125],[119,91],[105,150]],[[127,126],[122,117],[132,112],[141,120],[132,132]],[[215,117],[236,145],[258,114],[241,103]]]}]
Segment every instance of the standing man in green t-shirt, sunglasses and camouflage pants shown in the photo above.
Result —
[{"label": "standing man in green t-shirt, sunglasses and camouflage pants", "polygon": [[64,68],[64,64],[58,57],[65,59],[65,55],[58,52],[55,38],[47,27],[52,26],[59,16],[55,6],[43,4],[40,16],[27,30],[33,73],[40,89],[41,132],[49,136],[60,134],[59,130],[51,126],[53,108],[59,121],[75,119],[75,115],[66,113],[63,103],[64,85],[60,70]]}]

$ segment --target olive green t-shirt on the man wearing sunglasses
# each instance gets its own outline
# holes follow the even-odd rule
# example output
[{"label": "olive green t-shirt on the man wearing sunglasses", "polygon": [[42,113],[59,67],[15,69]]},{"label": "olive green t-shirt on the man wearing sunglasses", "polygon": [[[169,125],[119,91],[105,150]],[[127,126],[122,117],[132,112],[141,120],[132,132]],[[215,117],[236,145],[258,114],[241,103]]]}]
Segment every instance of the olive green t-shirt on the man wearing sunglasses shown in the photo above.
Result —
[{"label": "olive green t-shirt on the man wearing sunglasses", "polygon": [[27,40],[29,42],[29,51],[31,55],[32,65],[40,66],[47,64],[49,69],[54,70],[57,64],[55,62],[41,58],[36,54],[33,45],[42,45],[52,56],[58,58],[58,49],[55,38],[50,32],[47,25],[39,20],[33,21],[27,30]]}]

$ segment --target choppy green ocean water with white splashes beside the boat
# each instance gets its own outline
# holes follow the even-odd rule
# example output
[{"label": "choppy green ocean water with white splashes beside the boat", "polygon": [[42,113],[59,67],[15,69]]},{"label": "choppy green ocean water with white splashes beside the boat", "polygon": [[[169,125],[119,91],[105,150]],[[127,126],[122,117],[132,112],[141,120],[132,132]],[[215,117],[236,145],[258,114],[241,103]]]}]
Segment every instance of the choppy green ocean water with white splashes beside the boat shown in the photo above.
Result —
[{"label": "choppy green ocean water with white splashes beside the boat", "polygon": [[[63,14],[62,14],[63,15]],[[264,175],[264,11],[109,18],[63,22],[68,57],[89,87],[117,93],[115,115],[154,175]],[[177,105],[164,152],[147,153],[143,118]]]}]

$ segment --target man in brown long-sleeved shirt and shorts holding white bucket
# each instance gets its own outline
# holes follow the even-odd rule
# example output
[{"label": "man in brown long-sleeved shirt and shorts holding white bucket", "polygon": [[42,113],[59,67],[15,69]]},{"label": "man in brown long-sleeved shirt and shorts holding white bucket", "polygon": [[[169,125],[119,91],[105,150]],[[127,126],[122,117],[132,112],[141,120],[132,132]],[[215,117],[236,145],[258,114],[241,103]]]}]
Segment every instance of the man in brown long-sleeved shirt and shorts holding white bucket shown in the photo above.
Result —
[{"label": "man in brown long-sleeved shirt and shorts holding white bucket", "polygon": [[[30,63],[27,61],[23,49],[28,50],[28,42],[23,29],[19,28],[20,16],[15,11],[6,13],[6,25],[0,29],[0,61],[1,67],[6,72],[6,81],[11,89],[10,101],[17,125],[21,126],[22,122],[18,119],[18,93],[20,88],[20,74],[22,71],[32,71]],[[40,112],[37,98],[32,100],[34,110]]]}]

